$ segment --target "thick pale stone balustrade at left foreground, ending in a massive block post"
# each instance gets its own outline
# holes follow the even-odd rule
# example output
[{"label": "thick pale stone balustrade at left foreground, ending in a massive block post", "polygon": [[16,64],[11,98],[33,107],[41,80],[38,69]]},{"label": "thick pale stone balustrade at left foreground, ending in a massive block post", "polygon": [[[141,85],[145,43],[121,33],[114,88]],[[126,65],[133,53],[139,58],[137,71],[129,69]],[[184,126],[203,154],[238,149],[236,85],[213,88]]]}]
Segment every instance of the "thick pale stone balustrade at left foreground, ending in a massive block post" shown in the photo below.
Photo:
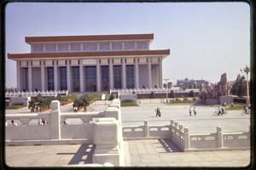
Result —
[{"label": "thick pale stone balustrade at left foreground, ending in a massive block post", "polygon": [[[60,102],[51,102],[50,113],[8,114],[6,120],[15,120],[17,126],[6,126],[6,145],[40,144],[96,144],[93,154],[95,165],[124,165],[124,148],[119,99],[103,112],[62,113]],[[81,119],[81,123],[68,123],[67,119]],[[94,118],[97,119],[94,121]],[[32,120],[44,119],[41,126]],[[37,121],[36,121],[37,122]]]}]

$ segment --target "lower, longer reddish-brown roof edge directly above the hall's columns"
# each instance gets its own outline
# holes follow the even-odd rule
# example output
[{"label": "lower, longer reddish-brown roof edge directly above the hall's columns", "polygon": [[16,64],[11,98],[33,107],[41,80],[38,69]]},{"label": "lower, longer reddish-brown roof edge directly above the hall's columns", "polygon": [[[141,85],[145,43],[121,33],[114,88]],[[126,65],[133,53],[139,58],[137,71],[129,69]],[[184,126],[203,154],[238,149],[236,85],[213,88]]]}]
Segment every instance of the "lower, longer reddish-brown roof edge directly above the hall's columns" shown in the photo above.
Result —
[{"label": "lower, longer reddish-brown roof edge directly above the hall's columns", "polygon": [[163,56],[165,59],[170,49],[139,50],[139,51],[102,51],[102,52],[73,52],[73,53],[40,53],[40,54],[8,54],[8,59],[73,59],[73,58],[106,58],[106,57],[149,57]]}]

